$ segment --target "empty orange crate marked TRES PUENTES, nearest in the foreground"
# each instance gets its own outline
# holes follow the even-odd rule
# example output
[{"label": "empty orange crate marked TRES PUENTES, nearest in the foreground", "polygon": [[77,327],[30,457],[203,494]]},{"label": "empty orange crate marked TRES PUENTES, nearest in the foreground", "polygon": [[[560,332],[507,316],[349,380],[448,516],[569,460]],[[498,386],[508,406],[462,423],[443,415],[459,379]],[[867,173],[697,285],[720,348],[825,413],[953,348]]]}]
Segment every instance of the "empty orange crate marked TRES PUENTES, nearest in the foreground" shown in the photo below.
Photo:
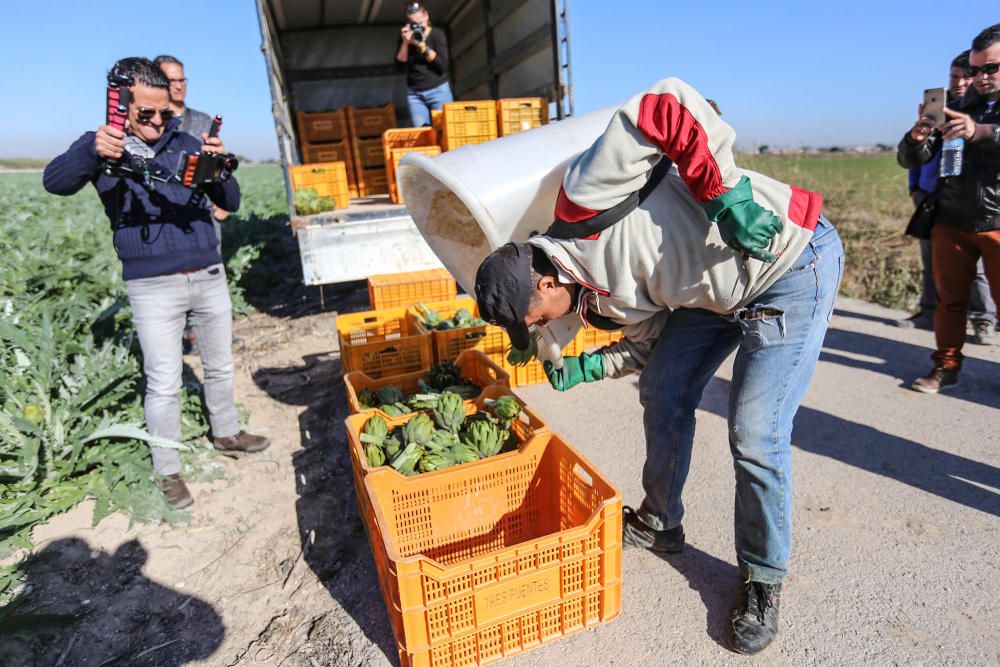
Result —
[{"label": "empty orange crate marked TRES PUENTES, nearest in the foreground", "polygon": [[621,611],[621,495],[558,435],[364,487],[404,667],[493,662]]}]

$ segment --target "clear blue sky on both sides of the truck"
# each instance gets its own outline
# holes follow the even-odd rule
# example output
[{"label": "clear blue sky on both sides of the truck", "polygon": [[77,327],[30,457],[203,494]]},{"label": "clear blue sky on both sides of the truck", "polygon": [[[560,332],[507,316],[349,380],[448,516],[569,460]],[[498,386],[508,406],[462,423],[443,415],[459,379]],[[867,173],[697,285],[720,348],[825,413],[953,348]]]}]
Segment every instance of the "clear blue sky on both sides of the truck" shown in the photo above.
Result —
[{"label": "clear blue sky on both sides of the truck", "polygon": [[[228,148],[252,158],[276,154],[253,0],[126,2],[116,5],[116,19],[98,6],[109,5],[4,3],[0,156],[60,152],[103,122],[110,64],[158,53],[185,62],[193,107],[225,115]],[[964,0],[571,0],[570,7],[578,113],[680,76],[719,102],[744,148],[895,143],[923,89],[946,85],[951,58],[1000,21],[995,3]],[[187,29],[162,29],[161,8]],[[151,18],[143,24],[142,15]]]}]

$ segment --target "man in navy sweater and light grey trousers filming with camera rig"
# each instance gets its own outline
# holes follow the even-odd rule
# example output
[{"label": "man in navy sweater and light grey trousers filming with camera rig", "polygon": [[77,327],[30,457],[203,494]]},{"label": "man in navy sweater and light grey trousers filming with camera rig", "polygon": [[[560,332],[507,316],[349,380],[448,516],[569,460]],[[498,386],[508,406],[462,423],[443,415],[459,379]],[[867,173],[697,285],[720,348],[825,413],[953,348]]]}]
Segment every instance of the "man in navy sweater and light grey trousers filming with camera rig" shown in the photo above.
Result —
[{"label": "man in navy sweater and light grey trousers filming with camera rig", "polygon": [[[45,189],[72,195],[91,183],[104,204],[142,346],[149,431],[180,440],[181,336],[190,314],[201,342],[215,448],[230,456],[261,451],[270,442],[240,429],[233,404],[232,306],[212,224],[213,204],[239,208],[240,187],[232,177],[201,191],[178,180],[184,154],[224,153],[225,147],[217,137],[202,134],[199,141],[179,131],[169,83],[151,61],[126,58],[115,68],[133,81],[125,131],[102,125],[84,133],[45,168]],[[108,161],[117,160],[141,173],[106,173]],[[167,502],[176,508],[193,503],[177,451],[152,447],[152,455]]]}]

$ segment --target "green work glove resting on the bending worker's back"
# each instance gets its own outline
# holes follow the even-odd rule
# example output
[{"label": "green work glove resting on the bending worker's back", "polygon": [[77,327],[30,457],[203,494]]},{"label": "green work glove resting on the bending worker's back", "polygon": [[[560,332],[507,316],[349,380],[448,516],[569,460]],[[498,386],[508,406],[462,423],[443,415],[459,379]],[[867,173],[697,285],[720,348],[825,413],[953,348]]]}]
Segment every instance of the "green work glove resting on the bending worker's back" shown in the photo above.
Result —
[{"label": "green work glove resting on the bending worker's back", "polygon": [[778,216],[753,200],[750,179],[746,176],[729,192],[702,204],[709,220],[719,225],[722,240],[736,252],[762,262],[777,259],[767,246],[784,225]]}]

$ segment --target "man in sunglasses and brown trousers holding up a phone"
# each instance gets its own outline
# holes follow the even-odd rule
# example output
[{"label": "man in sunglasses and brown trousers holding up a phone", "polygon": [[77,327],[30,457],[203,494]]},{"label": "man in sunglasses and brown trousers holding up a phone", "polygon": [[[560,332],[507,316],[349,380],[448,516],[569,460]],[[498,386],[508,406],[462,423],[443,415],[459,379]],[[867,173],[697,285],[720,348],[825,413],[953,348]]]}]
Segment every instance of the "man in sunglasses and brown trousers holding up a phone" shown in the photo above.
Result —
[{"label": "man in sunglasses and brown trousers holding up a phone", "polygon": [[913,168],[934,159],[942,142],[965,141],[962,172],[938,181],[931,230],[934,285],[934,367],[911,385],[936,394],[958,384],[976,262],[983,260],[994,302],[1000,300],[1000,23],[972,40],[972,88],[945,108],[939,127],[924,115],[899,142],[897,160]]}]

